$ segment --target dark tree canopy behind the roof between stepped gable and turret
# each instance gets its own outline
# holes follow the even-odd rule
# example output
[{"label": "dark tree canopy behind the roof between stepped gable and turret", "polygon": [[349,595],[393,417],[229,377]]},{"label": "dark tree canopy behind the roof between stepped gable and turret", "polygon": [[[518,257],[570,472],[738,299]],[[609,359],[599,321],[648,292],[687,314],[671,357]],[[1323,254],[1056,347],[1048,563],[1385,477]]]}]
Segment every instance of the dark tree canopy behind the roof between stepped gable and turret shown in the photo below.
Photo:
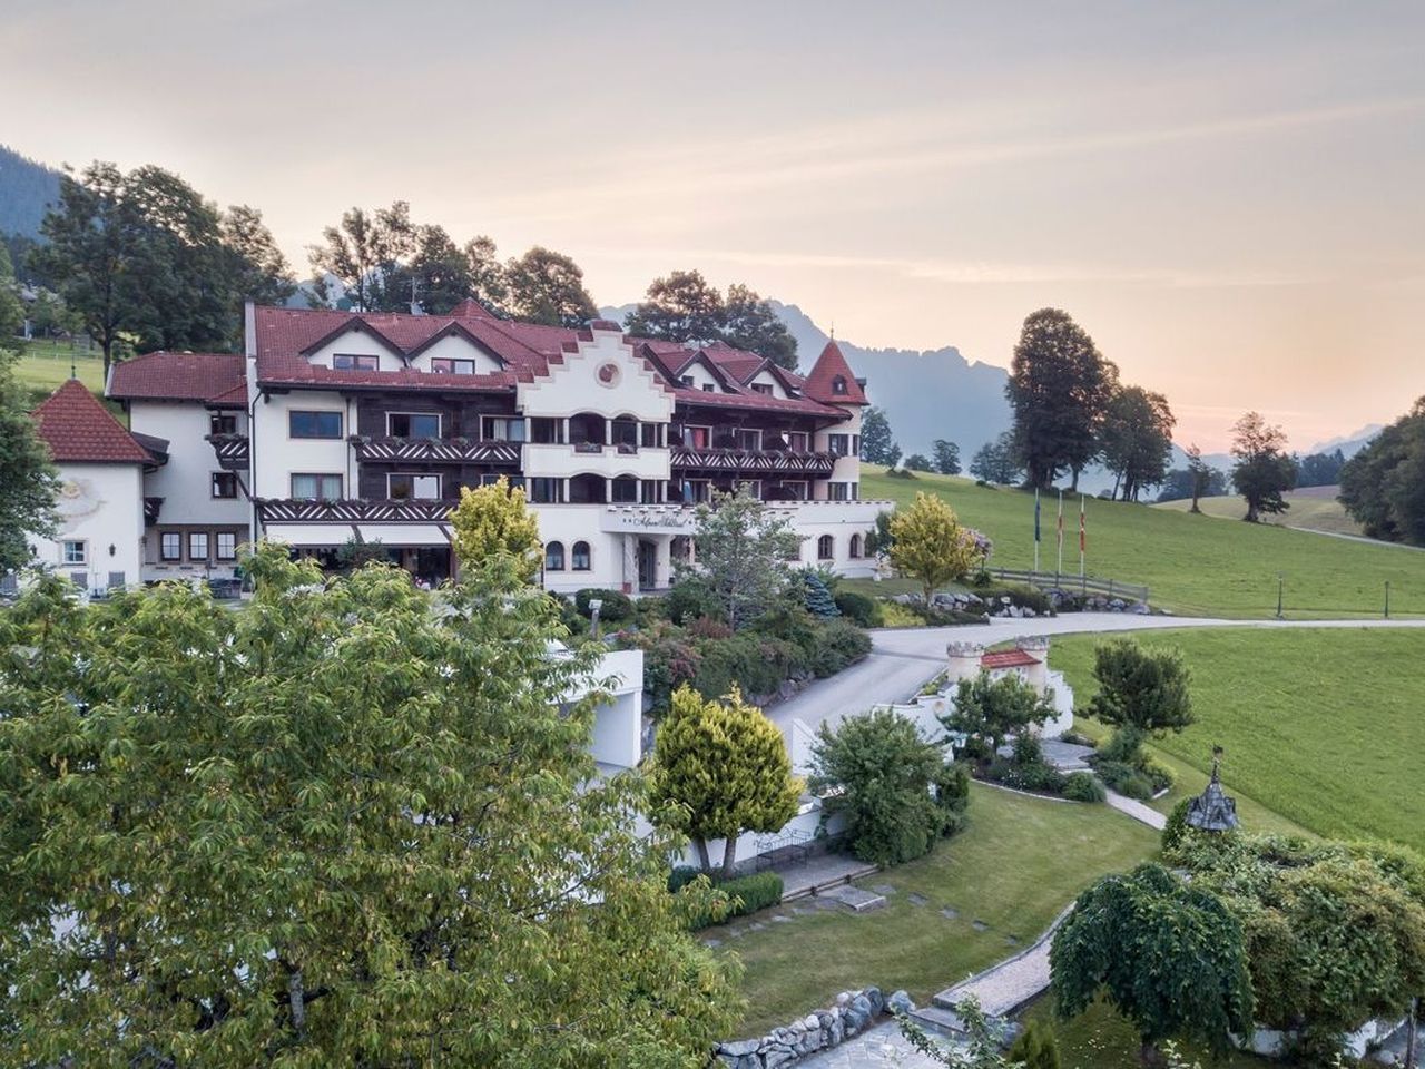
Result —
[{"label": "dark tree canopy behind the roof between stepped gable and turret", "polygon": [[737,282],[724,296],[700,271],[673,271],[653,279],[643,302],[624,316],[624,329],[673,342],[725,342],[797,369],[797,339],[771,302]]}]

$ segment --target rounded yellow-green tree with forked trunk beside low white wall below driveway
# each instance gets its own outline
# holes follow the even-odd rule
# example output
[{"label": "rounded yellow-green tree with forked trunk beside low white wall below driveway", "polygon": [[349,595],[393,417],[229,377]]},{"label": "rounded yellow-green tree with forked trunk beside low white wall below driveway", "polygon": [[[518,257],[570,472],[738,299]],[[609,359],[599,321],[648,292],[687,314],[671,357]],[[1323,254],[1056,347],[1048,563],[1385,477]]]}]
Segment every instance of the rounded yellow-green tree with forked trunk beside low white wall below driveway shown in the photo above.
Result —
[{"label": "rounded yellow-green tree with forked trunk beside low white wall below driveway", "polygon": [[665,825],[693,840],[704,872],[708,840],[725,840],[722,877],[731,877],[738,837],[779,831],[801,791],[782,733],[737,687],[721,701],[688,684],[674,691],[654,743],[653,801]]}]

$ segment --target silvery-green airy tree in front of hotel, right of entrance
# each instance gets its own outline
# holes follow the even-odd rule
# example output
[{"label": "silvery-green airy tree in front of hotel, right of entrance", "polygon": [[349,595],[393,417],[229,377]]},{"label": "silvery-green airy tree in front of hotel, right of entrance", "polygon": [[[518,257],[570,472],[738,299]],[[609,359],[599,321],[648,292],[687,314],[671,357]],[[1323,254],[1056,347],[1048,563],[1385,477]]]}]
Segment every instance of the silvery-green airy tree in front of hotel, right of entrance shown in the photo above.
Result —
[{"label": "silvery-green airy tree in front of hotel, right of entrance", "polygon": [[747,486],[735,493],[714,493],[711,502],[698,505],[694,525],[697,563],[691,572],[707,583],[735,631],[787,589],[788,562],[801,552],[801,536]]}]

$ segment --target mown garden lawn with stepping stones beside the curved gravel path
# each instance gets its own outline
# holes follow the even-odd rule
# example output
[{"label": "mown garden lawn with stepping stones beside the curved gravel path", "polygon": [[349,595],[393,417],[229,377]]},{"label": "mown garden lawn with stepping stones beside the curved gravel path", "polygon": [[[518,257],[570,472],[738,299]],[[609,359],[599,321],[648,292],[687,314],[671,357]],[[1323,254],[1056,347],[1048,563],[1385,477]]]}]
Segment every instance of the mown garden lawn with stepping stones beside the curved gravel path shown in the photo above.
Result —
[{"label": "mown garden lawn with stepping stones beside the curved gravel path", "polygon": [[[737,1035],[785,1025],[836,992],[876,983],[918,1003],[1032,942],[1106,872],[1157,851],[1157,832],[1104,805],[1042,801],[973,784],[970,825],[919,861],[861,881],[891,887],[866,914],[818,909],[802,899],[710,928],[720,952],[745,965],[747,1016]],[[915,905],[911,895],[923,897]],[[799,907],[804,912],[794,912]],[[955,919],[943,908],[958,912]],[[772,922],[774,915],[788,918]],[[975,921],[988,925],[978,931]],[[748,924],[764,928],[748,932]],[[732,935],[737,932],[737,935]]]}]

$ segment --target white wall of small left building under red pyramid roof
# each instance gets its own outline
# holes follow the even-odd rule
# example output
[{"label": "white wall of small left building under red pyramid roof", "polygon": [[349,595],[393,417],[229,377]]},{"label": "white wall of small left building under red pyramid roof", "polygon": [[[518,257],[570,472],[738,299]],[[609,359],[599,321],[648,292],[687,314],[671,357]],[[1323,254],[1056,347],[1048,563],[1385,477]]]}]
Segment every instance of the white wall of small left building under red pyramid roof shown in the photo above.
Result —
[{"label": "white wall of small left building under red pyramid roof", "polygon": [[[141,466],[61,463],[58,469],[60,527],[54,539],[31,539],[34,562],[61,576],[83,573],[90,590],[107,587],[111,572],[123,572],[125,584],[138,583],[144,537]],[[86,563],[64,563],[66,540],[86,543]]]}]

